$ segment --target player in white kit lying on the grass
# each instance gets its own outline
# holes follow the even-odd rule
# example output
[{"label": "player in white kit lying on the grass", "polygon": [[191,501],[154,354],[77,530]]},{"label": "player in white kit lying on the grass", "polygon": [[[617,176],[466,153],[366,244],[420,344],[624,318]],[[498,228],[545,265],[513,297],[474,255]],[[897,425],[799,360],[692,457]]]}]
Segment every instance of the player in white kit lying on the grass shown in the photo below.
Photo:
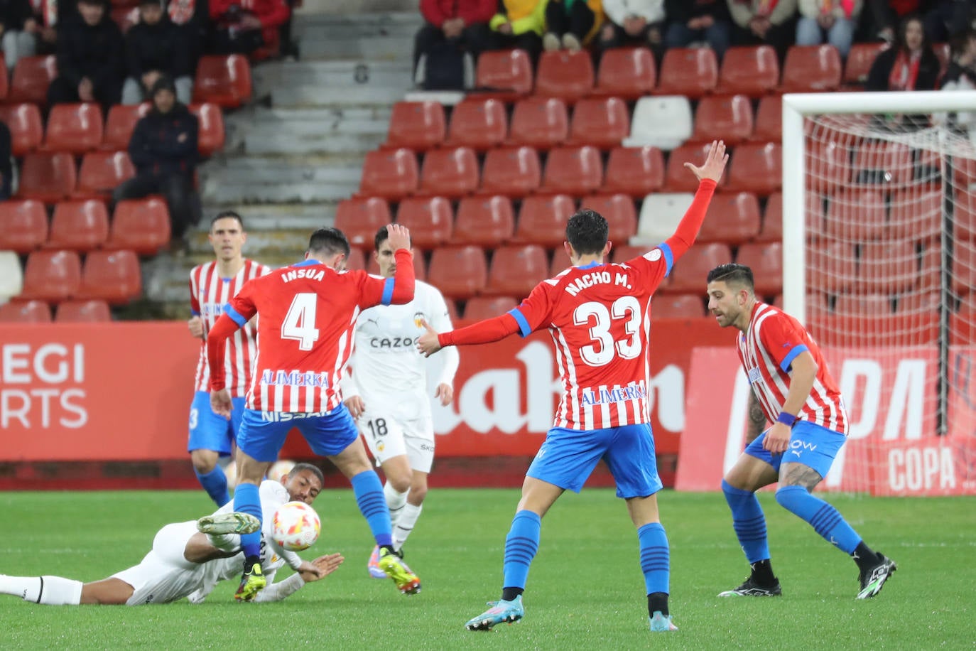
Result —
[{"label": "player in white kit lying on the grass", "polygon": [[[306,583],[332,574],[342,564],[343,556],[339,553],[304,561],[294,551],[281,549],[271,540],[270,522],[274,511],[286,502],[310,505],[321,489],[322,471],[309,464],[292,468],[281,478],[281,483],[262,482],[265,526],[261,556],[262,564],[267,568],[268,586],[258,594],[256,601],[280,601]],[[261,527],[258,518],[234,513],[232,506],[228,503],[199,521],[167,524],[156,534],[152,549],[139,565],[102,581],[82,583],[52,576],[0,575],[0,594],[13,594],[24,601],[49,606],[81,603],[138,606],[170,603],[183,597],[191,603],[200,603],[219,582],[237,576],[241,562],[240,534]],[[275,571],[286,562],[296,574],[271,583]]]}]

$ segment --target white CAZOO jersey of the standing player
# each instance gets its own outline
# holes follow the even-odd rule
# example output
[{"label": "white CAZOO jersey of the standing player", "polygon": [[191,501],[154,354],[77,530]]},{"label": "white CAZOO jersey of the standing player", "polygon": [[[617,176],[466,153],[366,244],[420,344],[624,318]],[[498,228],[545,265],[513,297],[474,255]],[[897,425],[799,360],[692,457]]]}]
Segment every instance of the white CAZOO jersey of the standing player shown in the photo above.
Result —
[{"label": "white CAZOO jersey of the standing player", "polygon": [[[342,383],[343,399],[361,396],[367,413],[370,405],[382,405],[387,414],[399,419],[429,418],[427,369],[433,362],[417,349],[417,340],[425,332],[423,320],[437,332],[453,330],[444,297],[420,280],[410,303],[364,309],[356,322],[355,346]],[[441,354],[442,370],[433,384],[452,386],[458,349],[448,346]]]}]

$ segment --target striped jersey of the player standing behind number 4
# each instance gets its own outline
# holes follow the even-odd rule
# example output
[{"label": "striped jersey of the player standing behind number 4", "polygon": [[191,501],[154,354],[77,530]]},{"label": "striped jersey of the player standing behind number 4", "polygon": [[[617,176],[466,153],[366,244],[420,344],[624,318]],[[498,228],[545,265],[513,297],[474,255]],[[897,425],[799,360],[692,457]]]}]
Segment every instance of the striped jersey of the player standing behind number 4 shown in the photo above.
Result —
[{"label": "striped jersey of the player standing behind number 4", "polygon": [[[207,365],[207,333],[214,322],[224,313],[224,305],[232,299],[248,280],[270,273],[271,267],[253,260],[245,260],[244,266],[232,278],[222,278],[217,262],[197,264],[189,272],[190,311],[203,321],[203,342],[200,359],[196,363],[196,380],[193,390],[210,391],[210,368]],[[224,354],[227,389],[231,397],[241,397],[251,384],[251,364],[258,351],[257,329],[248,323],[227,341]]]}]

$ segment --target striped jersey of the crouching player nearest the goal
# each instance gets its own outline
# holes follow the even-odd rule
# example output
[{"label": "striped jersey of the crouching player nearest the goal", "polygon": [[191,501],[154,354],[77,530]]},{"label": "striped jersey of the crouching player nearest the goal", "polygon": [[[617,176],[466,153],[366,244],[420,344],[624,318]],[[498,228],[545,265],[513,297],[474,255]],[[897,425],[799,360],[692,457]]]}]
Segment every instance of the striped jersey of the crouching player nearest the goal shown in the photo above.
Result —
[{"label": "striped jersey of the crouching player nearest the goal", "polygon": [[770,423],[775,423],[783,411],[783,403],[790,391],[790,365],[796,355],[805,350],[813,355],[817,363],[817,378],[796,417],[842,434],[847,433],[847,410],[844,409],[840,389],[820,353],[820,346],[799,321],[782,309],[756,303],[752,308],[749,330],[739,335],[737,343],[739,359],[749,376],[752,392]]}]

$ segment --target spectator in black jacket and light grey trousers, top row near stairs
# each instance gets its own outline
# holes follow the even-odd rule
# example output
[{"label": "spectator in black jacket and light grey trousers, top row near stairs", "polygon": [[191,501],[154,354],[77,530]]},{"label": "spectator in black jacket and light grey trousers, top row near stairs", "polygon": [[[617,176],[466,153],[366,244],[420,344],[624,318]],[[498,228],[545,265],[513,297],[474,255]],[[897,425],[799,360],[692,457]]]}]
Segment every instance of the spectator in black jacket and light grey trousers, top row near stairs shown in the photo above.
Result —
[{"label": "spectator in black jacket and light grey trousers, top row near stairs", "polygon": [[159,0],[141,0],[139,22],[125,36],[129,78],[122,87],[122,103],[138,104],[163,75],[177,88],[177,101],[188,104],[193,94],[189,52],[183,30],[163,13]]}]

